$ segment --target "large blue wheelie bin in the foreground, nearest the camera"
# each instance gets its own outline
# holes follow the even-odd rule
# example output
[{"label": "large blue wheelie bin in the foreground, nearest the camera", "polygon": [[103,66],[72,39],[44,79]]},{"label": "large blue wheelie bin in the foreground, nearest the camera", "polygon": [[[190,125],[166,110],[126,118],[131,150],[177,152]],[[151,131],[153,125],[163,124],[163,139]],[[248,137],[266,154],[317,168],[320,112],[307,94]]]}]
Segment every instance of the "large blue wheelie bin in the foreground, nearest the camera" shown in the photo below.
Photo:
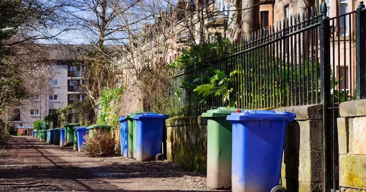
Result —
[{"label": "large blue wheelie bin in the foreground, nearest the camera", "polygon": [[232,123],[232,192],[283,188],[277,185],[286,125],[295,117],[294,113],[270,110],[244,110],[227,116]]}]

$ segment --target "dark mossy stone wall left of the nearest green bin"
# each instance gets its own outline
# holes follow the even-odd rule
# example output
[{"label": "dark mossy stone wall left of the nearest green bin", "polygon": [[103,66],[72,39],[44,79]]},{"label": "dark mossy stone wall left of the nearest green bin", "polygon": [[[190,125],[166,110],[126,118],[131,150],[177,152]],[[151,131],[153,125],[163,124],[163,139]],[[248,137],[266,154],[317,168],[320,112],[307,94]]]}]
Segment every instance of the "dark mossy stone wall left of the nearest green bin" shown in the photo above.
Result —
[{"label": "dark mossy stone wall left of the nearest green bin", "polygon": [[207,170],[207,120],[201,116],[169,118],[167,160],[201,173]]}]

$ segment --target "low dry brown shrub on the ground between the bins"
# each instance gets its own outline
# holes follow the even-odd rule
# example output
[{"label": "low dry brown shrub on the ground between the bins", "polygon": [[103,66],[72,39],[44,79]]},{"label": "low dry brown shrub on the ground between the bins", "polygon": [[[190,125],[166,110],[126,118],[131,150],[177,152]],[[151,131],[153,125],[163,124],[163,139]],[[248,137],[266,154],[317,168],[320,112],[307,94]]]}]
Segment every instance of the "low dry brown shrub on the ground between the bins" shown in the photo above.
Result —
[{"label": "low dry brown shrub on the ground between the bins", "polygon": [[106,131],[96,129],[93,137],[85,136],[83,151],[88,157],[111,157],[116,155],[115,137]]}]

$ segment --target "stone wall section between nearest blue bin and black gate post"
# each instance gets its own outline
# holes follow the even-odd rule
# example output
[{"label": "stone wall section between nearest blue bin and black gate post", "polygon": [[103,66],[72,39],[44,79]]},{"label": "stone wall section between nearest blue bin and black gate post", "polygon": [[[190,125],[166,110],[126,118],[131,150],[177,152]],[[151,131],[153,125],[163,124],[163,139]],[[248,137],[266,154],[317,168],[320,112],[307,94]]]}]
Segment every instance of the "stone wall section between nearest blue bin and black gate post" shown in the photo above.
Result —
[{"label": "stone wall section between nearest blue bin and black gate post", "polygon": [[281,185],[291,192],[323,191],[322,105],[273,110],[296,114],[286,128]]}]

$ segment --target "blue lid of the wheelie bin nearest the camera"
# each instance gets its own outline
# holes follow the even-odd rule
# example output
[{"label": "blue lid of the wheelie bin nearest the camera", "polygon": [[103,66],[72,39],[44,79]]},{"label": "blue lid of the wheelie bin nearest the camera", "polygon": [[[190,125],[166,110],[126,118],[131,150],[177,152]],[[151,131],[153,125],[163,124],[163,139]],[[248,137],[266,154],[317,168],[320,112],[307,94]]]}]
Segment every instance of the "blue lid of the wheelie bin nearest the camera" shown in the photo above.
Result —
[{"label": "blue lid of the wheelie bin nearest the camera", "polygon": [[278,112],[270,110],[244,110],[240,113],[231,113],[226,117],[232,121],[247,121],[247,120],[288,120],[293,121],[296,117],[295,113]]}]

